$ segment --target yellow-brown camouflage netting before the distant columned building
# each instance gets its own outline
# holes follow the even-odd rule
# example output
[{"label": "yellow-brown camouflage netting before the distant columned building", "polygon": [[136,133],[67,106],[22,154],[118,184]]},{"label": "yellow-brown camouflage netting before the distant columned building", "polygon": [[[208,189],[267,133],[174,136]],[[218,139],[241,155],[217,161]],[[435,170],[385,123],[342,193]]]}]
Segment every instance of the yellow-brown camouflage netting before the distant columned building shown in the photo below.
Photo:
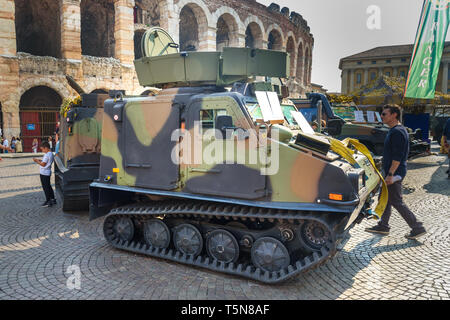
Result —
[{"label": "yellow-brown camouflage netting before the distant columned building", "polygon": [[328,99],[331,103],[351,103],[357,105],[384,105],[394,103],[403,108],[424,107],[426,105],[450,104],[450,95],[436,92],[435,98],[430,100],[406,98],[402,101],[405,89],[405,78],[382,76],[370,82],[366,86],[351,92],[348,95],[330,94]]}]

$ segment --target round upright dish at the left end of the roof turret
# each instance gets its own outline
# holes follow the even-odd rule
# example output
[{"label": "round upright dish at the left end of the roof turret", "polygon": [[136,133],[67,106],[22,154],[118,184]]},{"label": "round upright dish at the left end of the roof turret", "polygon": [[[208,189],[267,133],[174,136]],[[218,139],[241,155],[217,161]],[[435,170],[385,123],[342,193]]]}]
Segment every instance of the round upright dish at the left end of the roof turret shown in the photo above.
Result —
[{"label": "round upright dish at the left end of the roof turret", "polygon": [[178,53],[178,44],[172,37],[159,27],[148,29],[142,36],[142,56],[156,57],[171,53]]}]

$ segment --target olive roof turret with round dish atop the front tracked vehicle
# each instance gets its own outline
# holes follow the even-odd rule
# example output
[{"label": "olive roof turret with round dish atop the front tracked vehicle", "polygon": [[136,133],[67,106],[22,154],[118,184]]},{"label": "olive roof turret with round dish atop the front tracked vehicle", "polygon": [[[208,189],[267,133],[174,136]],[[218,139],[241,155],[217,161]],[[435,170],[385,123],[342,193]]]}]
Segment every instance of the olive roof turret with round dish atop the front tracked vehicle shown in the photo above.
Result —
[{"label": "olive roof turret with round dish atop the front tracked vehicle", "polygon": [[178,44],[158,27],[142,37],[142,54],[143,58],[134,61],[142,86],[223,87],[254,76],[286,78],[289,74],[286,52],[231,47],[222,52],[178,52]]}]

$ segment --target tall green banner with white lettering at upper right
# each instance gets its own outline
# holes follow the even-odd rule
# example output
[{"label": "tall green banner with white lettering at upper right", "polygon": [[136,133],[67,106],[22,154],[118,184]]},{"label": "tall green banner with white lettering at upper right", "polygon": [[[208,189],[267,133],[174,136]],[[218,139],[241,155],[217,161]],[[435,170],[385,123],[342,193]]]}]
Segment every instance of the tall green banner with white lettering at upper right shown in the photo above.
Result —
[{"label": "tall green banner with white lettering at upper right", "polygon": [[[434,98],[439,65],[450,21],[449,1],[424,1],[406,80],[404,96],[407,98]],[[443,81],[446,80],[443,79]]]}]

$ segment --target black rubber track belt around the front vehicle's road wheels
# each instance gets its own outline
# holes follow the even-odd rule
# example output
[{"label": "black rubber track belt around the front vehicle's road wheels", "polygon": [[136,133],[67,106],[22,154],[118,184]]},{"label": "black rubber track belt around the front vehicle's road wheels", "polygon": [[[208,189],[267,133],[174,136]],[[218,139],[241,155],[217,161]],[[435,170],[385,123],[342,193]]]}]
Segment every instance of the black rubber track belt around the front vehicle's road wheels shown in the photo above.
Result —
[{"label": "black rubber track belt around the front vehicle's road wheels", "polygon": [[[225,218],[234,221],[279,221],[293,223],[295,220],[315,220],[325,225],[330,225],[326,219],[319,216],[317,213],[305,213],[302,211],[296,212],[293,210],[273,210],[255,207],[245,207],[239,205],[217,204],[209,202],[184,202],[184,201],[170,201],[161,202],[152,206],[125,206],[111,210],[107,219],[111,216],[131,217],[134,219],[147,219],[151,216],[169,215],[173,217],[217,217]],[[331,230],[333,230],[331,228]],[[179,263],[193,265],[197,267],[206,268],[209,270],[227,273],[231,275],[238,275],[245,278],[261,281],[268,284],[274,284],[285,281],[300,273],[309,271],[313,268],[323,264],[328,259],[336,254],[336,242],[329,241],[325,244],[320,252],[314,252],[305,258],[291,263],[285,269],[276,272],[268,272],[256,268],[253,265],[243,265],[235,263],[224,263],[217,260],[212,260],[208,256],[198,256],[194,258],[192,255],[185,255],[174,249],[159,249],[149,246],[146,243],[138,243],[135,241],[121,241],[115,239],[107,241],[115,248],[131,251],[135,253],[145,254],[152,257],[163,258]]]}]

